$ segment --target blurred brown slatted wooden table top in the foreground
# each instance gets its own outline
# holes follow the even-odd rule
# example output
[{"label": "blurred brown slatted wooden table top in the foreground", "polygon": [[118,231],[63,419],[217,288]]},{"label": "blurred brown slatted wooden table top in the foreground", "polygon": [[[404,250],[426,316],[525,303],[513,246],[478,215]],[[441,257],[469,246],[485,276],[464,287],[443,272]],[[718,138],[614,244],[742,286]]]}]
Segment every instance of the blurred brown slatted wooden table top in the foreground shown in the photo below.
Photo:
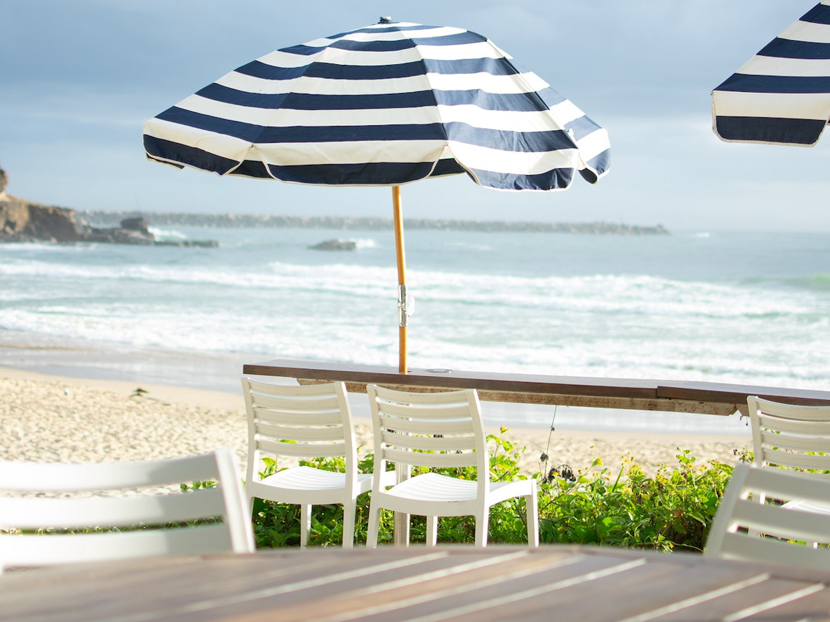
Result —
[{"label": "blurred brown slatted wooden table top in the foreground", "polygon": [[830,570],[611,547],[145,558],[0,576],[0,620],[830,620]]}]

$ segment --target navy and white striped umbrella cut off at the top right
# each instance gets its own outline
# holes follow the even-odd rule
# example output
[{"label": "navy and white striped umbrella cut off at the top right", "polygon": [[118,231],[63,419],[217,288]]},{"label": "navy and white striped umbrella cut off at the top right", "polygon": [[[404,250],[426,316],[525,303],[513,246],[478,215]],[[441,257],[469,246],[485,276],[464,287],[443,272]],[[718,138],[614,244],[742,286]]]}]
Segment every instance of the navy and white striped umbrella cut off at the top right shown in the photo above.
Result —
[{"label": "navy and white striped umbrella cut off at the top right", "polygon": [[822,0],[712,91],[721,140],[813,146],[830,121],[830,0]]}]

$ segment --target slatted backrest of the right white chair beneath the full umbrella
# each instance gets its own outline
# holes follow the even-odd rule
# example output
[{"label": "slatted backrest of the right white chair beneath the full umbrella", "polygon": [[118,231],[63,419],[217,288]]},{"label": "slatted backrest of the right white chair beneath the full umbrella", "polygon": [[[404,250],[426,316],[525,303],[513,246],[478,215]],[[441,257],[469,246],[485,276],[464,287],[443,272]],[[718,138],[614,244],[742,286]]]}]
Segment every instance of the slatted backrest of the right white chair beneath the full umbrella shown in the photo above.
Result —
[{"label": "slatted backrest of the right white chair beneath the full umbrella", "polygon": [[372,407],[375,473],[384,472],[387,461],[474,466],[479,484],[489,482],[490,460],[474,389],[412,393],[367,385],[366,392]]}]

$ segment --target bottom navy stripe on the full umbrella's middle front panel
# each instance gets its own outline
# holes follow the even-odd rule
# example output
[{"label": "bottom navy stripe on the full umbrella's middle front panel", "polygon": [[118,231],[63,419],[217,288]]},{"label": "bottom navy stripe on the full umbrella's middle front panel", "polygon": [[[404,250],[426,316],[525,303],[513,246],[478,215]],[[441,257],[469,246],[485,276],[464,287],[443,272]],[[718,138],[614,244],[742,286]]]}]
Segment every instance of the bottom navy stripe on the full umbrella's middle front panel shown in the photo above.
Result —
[{"label": "bottom navy stripe on the full umbrella's middle front panel", "polygon": [[284,182],[323,186],[390,186],[416,182],[428,177],[432,163],[315,164],[308,166],[268,165],[271,174]]}]

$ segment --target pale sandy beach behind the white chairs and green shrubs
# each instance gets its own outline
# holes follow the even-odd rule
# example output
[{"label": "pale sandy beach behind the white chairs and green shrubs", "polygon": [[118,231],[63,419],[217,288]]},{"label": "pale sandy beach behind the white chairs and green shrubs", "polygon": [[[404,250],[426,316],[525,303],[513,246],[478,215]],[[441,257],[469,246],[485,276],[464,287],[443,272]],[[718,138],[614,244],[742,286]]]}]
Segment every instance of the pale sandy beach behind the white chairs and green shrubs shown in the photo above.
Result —
[{"label": "pale sandy beach behind the white chairs and green shrubs", "polygon": [[[136,391],[137,389],[142,391]],[[371,451],[369,420],[355,420],[361,452]],[[490,430],[498,434],[499,430]],[[677,464],[678,448],[698,463],[735,462],[749,448],[749,435],[678,435],[593,430],[510,429],[505,438],[525,447],[526,474],[568,464],[588,469],[595,458],[610,474],[631,457],[647,473]],[[0,459],[115,461],[202,453],[217,447],[247,458],[247,423],[242,396],[181,386],[46,376],[0,367]],[[596,467],[594,468],[596,469]]]}]

